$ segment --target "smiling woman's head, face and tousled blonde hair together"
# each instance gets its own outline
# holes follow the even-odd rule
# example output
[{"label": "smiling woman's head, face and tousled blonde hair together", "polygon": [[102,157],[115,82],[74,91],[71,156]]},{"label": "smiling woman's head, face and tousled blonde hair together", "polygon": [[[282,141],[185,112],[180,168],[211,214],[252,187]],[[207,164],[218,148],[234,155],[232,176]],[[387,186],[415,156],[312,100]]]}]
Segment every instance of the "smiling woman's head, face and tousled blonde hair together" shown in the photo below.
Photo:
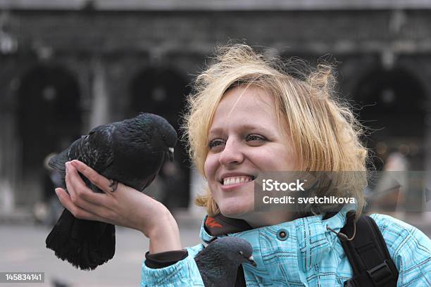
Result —
[{"label": "smiling woman's head, face and tousled blonde hair together", "polygon": [[[343,189],[330,189],[325,196],[341,197],[349,190],[356,199],[356,217],[361,215],[368,154],[359,141],[363,128],[349,106],[335,97],[330,65],[296,70],[293,77],[286,72],[293,64],[255,53],[249,46],[224,46],[215,63],[196,78],[185,134],[190,157],[208,181],[206,193],[196,198],[208,215],[221,211],[254,227],[298,216],[266,212],[270,219],[266,222],[263,215],[252,212],[253,184],[238,188],[221,184],[220,177],[232,170],[239,173],[232,175],[254,178],[262,172],[354,171],[337,174]],[[249,190],[241,193],[244,200],[235,200],[243,189]],[[226,195],[223,190],[235,193]],[[300,216],[325,214],[342,207],[308,204],[299,212]],[[238,213],[233,214],[232,208]]]}]

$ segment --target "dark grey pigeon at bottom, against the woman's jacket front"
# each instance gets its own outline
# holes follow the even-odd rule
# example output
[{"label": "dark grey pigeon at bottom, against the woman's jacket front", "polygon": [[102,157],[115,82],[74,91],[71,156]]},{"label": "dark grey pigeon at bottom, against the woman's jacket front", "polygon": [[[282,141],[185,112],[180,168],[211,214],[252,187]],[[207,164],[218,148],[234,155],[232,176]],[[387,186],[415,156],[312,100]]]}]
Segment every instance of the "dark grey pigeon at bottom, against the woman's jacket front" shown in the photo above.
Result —
[{"label": "dark grey pigeon at bottom, against the woman's jacket front", "polygon": [[253,248],[245,239],[226,236],[211,241],[194,261],[205,287],[233,287],[241,263],[256,267],[252,253]]}]

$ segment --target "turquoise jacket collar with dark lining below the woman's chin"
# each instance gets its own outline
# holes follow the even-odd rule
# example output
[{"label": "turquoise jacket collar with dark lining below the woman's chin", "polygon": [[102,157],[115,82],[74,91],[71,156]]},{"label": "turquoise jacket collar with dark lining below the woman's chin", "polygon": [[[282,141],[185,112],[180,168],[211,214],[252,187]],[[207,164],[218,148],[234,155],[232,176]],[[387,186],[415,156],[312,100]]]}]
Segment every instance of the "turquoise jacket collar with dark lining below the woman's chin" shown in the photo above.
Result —
[{"label": "turquoise jacket collar with dark lining below the woman's chin", "polygon": [[[296,234],[299,263],[304,271],[308,271],[330,252],[334,243],[338,240],[337,235],[328,231],[326,227],[330,227],[337,232],[340,231],[346,224],[346,213],[350,210],[356,210],[356,205],[345,205],[342,210],[327,219],[324,219],[323,215],[313,215],[295,219],[291,222],[283,222],[272,227],[260,227],[257,229],[253,229],[242,219],[232,219],[223,215],[215,215],[213,217],[207,215],[202,222],[200,236],[206,243],[213,241],[219,236],[223,237],[228,234],[244,237],[249,240],[254,236],[258,236],[261,229],[272,229],[275,231],[286,229]],[[254,242],[256,243],[251,242],[251,244],[258,244],[258,241]],[[260,246],[254,246],[255,250],[258,250],[258,248]],[[256,258],[256,256],[254,257]]]}]

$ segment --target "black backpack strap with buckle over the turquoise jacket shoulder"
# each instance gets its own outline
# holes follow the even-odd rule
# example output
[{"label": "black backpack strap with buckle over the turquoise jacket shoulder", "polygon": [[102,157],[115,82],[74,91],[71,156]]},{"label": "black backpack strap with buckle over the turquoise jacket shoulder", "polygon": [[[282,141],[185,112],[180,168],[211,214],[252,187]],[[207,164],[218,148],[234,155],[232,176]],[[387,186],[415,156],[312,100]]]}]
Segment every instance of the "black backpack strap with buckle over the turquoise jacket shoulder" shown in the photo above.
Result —
[{"label": "black backpack strap with buckle over the turquoise jacket shoulder", "polygon": [[[349,218],[350,217],[350,218]],[[349,216],[340,233],[351,238],[355,231],[354,216]],[[339,236],[341,239],[342,237]],[[341,240],[354,278],[344,282],[348,287],[394,287],[398,270],[389,256],[385,239],[373,218],[361,215],[356,222],[356,235],[351,241]]]}]

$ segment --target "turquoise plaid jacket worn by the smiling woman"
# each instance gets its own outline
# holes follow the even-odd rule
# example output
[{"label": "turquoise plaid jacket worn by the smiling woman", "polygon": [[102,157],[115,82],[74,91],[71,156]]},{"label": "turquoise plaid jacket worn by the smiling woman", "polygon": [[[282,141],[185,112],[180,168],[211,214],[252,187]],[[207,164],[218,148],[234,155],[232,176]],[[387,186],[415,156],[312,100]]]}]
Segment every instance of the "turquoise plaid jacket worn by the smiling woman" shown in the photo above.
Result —
[{"label": "turquoise plaid jacket worn by the smiling woman", "polygon": [[[243,264],[246,286],[343,286],[353,272],[337,236],[344,227],[346,206],[329,219],[322,215],[228,234],[253,245],[257,267]],[[371,215],[387,243],[396,268],[397,286],[431,286],[431,241],[422,231],[387,215]],[[205,222],[205,220],[204,220]],[[213,236],[201,227],[201,238]],[[284,231],[287,236],[277,236]],[[202,244],[187,248],[184,260],[161,269],[142,264],[141,286],[204,286],[194,256]]]}]

